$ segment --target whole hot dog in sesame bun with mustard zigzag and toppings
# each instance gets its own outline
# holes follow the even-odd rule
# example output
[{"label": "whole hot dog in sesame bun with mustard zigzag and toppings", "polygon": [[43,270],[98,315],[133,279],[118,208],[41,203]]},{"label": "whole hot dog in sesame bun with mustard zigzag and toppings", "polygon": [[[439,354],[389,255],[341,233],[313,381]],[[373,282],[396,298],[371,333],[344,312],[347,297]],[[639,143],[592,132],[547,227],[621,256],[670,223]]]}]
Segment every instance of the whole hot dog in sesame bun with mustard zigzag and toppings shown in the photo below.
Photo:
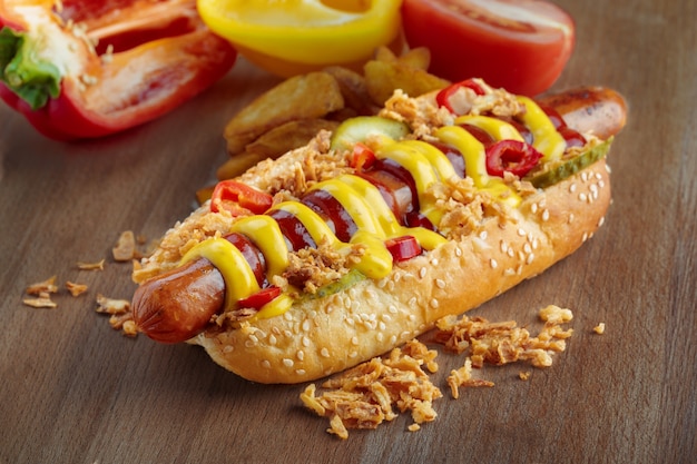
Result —
[{"label": "whole hot dog in sesame bun with mustard zigzag and toppings", "polygon": [[625,121],[603,88],[537,102],[481,80],[397,91],[380,119],[262,162],[232,205],[214,195],[173,227],[134,270],[136,324],[261,383],[354,366],[591,237]]}]

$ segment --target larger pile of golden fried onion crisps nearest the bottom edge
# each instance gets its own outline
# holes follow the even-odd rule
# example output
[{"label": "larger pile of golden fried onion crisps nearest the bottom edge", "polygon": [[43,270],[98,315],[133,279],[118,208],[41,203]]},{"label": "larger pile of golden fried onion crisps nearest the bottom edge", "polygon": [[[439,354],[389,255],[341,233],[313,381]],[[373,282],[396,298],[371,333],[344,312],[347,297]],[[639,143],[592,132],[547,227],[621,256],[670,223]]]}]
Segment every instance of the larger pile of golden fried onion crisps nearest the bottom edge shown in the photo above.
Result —
[{"label": "larger pile of golden fried onion crisps nearest the bottom edge", "polygon": [[[414,356],[412,356],[414,355]],[[301,401],[317,415],[330,418],[328,433],[346,440],[350,428],[376,428],[394,419],[394,408],[411,412],[411,431],[435,419],[433,401],[442,397],[422,369],[435,371],[435,352],[421,342],[394,348],[386,358],[373,358],[326,381],[316,395],[315,384],[301,394]],[[415,426],[414,426],[415,424]]]}]

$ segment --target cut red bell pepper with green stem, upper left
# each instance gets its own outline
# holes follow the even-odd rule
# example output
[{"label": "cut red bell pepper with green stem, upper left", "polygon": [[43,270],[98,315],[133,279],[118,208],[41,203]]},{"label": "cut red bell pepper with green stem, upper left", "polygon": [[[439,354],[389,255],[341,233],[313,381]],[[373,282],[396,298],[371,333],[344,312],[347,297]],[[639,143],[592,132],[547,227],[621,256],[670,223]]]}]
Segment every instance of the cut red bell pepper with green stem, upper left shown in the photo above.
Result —
[{"label": "cut red bell pepper with green stem, upper left", "polygon": [[236,57],[195,0],[0,0],[0,97],[53,139],[158,118]]}]

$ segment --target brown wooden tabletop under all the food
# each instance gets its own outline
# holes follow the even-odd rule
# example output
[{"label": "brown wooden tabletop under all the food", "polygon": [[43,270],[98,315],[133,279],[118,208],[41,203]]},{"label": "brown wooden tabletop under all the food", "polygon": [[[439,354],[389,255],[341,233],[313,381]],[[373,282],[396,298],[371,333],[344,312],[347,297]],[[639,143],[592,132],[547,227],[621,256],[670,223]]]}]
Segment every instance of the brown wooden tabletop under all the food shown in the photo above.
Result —
[{"label": "brown wooden tabletop under all the food", "polygon": [[[343,442],[302,407],[304,385],[254,385],[199,348],[111,329],[97,295],[135,288],[130,265],[110,258],[119,234],[155,239],[184,218],[226,158],[225,122],[277,81],[240,60],[200,98],[104,140],[55,142],[0,107],[0,462],[693,462],[696,3],[559,3],[578,42],[556,88],[609,86],[630,105],[613,205],[576,255],[472,313],[527,324],[544,305],[571,308],[553,366],[484,368],[495,386],[455,401],[443,378],[461,359],[442,356],[435,422],[412,433],[402,414]],[[104,270],[76,266],[102,258]],[[27,285],[52,275],[58,307],[24,306]],[[67,280],[89,290],[72,297]]]}]

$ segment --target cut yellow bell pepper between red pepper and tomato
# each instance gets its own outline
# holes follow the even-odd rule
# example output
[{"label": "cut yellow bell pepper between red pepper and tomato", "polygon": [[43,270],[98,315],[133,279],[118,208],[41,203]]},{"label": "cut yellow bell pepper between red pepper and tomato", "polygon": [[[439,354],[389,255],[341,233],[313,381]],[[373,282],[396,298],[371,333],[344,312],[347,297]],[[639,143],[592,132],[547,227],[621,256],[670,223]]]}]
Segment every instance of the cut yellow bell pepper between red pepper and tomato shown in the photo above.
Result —
[{"label": "cut yellow bell pepper between red pepper and tomato", "polygon": [[289,77],[331,65],[356,68],[401,46],[402,0],[198,0],[198,12],[253,63]]}]

